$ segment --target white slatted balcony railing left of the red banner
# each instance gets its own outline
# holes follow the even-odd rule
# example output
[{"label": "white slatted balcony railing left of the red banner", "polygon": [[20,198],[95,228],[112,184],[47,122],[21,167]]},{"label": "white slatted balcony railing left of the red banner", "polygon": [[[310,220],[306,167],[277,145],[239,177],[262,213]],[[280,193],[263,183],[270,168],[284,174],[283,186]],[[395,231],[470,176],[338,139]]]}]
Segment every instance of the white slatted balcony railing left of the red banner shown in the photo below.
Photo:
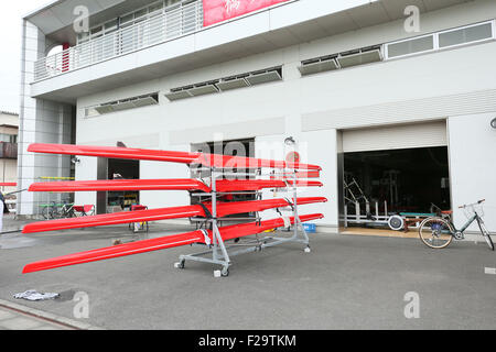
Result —
[{"label": "white slatted balcony railing left of the red banner", "polygon": [[34,81],[163,43],[202,28],[203,1],[195,1],[174,10],[165,9],[163,13],[143,22],[39,59],[34,64]]}]

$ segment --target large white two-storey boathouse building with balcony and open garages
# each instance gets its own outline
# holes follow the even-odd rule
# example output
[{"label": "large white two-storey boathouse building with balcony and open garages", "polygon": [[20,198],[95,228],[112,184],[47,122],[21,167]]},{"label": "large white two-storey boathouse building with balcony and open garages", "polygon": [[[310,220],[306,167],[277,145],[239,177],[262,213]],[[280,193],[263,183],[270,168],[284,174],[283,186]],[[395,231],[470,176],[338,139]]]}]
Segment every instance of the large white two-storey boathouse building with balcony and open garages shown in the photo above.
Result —
[{"label": "large white two-storey boathouse building with balcony and open garages", "polygon": [[[324,169],[325,187],[309,194],[330,202],[305,208],[325,213],[320,229],[339,226],[346,177],[390,210],[451,207],[457,224],[459,205],[486,198],[496,231],[496,1],[290,0],[245,14],[247,1],[209,9],[218,2],[60,0],[26,15],[20,187],[71,176],[73,164],[76,179],[109,173],[97,158],[28,153],[33,142],[192,151],[222,136],[284,157],[268,146],[293,136],[304,162]],[[79,6],[89,32],[75,32]],[[48,55],[57,45],[66,50]],[[190,175],[153,162],[111,168]],[[36,213],[37,197],[22,194],[19,213]],[[142,191],[139,201],[190,199]]]}]

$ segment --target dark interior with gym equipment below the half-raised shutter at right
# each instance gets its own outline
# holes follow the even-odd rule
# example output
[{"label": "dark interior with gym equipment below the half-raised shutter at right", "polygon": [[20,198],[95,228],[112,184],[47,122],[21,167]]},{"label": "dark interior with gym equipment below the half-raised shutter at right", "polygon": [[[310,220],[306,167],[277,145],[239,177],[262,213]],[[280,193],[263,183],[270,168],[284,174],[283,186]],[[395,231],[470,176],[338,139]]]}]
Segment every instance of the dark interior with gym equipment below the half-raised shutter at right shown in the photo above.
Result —
[{"label": "dark interior with gym equipment below the half-raised shutter at right", "polygon": [[422,219],[434,211],[432,205],[448,210],[448,147],[344,153],[343,185],[343,217],[351,220],[346,228],[390,230],[388,219],[393,215]]}]

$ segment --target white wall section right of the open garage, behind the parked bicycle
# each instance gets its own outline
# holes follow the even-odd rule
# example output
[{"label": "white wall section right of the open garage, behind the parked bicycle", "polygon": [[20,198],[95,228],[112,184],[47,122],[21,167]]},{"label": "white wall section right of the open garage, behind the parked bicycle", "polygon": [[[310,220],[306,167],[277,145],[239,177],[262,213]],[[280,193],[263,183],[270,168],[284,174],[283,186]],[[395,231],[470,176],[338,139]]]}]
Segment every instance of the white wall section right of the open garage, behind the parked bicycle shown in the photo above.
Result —
[{"label": "white wall section right of the open garage, behind the parked bicycle", "polygon": [[[494,113],[450,118],[450,173],[455,224],[466,218],[457,207],[486,199],[485,222],[496,232],[496,130]],[[475,224],[471,230],[478,231]]]}]

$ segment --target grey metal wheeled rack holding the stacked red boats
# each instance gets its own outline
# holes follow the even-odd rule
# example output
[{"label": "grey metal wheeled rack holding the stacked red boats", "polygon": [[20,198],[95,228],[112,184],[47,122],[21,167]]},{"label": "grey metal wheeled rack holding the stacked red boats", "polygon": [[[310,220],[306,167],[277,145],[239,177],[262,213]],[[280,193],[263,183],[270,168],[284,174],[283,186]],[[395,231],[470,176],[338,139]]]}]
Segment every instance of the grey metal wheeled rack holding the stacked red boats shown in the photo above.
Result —
[{"label": "grey metal wheeled rack holding the stacked red boats", "polygon": [[[294,180],[293,185],[290,186],[288,183],[287,190],[292,191],[293,194],[293,202],[291,205],[291,209],[294,217],[294,224],[292,229],[292,235],[291,237],[280,237],[280,235],[271,235],[271,237],[263,237],[259,238],[259,235],[256,235],[254,240],[250,240],[246,243],[237,243],[235,241],[234,244],[226,244],[220,235],[220,231],[218,228],[218,222],[223,219],[217,218],[217,196],[219,193],[217,193],[217,179],[226,176],[254,176],[254,174],[244,174],[244,173],[226,173],[223,172],[223,169],[218,169],[215,167],[209,168],[211,177],[212,177],[212,193],[209,194],[195,194],[195,196],[212,196],[212,218],[205,219],[204,221],[209,224],[212,233],[213,233],[213,241],[208,238],[207,231],[204,230],[205,234],[205,243],[202,244],[197,243],[197,245],[207,246],[208,250],[194,253],[194,254],[184,254],[180,255],[179,262],[174,264],[174,267],[176,268],[184,268],[186,261],[194,261],[194,262],[202,262],[202,263],[211,263],[215,265],[220,265],[222,270],[214,271],[214,277],[226,277],[229,275],[229,267],[231,265],[231,257],[245,254],[245,253],[252,253],[252,252],[260,252],[266,248],[271,248],[274,245],[279,245],[282,243],[302,243],[305,245],[304,252],[310,253],[310,239],[309,235],[303,228],[303,224],[300,220],[299,212],[298,212],[298,186],[296,186],[296,170],[289,170],[285,169],[282,174],[261,174],[257,173],[256,176],[270,176],[270,177],[277,177],[279,175],[288,176],[289,172]],[[226,194],[237,194],[237,193],[222,193],[223,195]],[[259,219],[259,217],[257,216]],[[231,220],[227,218],[227,220]],[[254,220],[254,219],[251,219]],[[259,220],[256,220],[259,221]],[[288,221],[284,221],[287,224]],[[291,222],[289,222],[288,228],[291,227]],[[244,248],[244,249],[239,249]]]}]

